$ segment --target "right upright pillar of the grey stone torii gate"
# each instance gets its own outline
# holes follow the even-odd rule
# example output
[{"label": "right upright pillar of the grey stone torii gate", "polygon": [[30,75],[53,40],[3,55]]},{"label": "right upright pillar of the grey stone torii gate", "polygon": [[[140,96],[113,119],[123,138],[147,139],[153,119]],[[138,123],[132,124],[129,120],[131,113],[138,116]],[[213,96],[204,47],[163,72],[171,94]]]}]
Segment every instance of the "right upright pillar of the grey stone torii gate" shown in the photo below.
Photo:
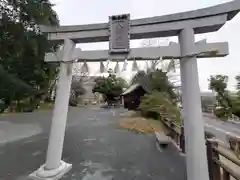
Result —
[{"label": "right upright pillar of the grey stone torii gate", "polygon": [[180,71],[184,131],[187,135],[187,177],[189,180],[209,180],[193,28],[182,29],[178,38],[182,56]]}]

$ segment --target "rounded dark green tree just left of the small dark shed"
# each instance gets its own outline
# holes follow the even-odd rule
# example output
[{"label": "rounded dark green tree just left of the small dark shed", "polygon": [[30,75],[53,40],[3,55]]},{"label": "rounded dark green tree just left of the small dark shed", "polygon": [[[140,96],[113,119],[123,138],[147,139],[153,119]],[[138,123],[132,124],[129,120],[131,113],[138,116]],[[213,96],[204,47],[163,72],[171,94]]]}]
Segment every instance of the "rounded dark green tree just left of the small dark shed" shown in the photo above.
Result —
[{"label": "rounded dark green tree just left of the small dark shed", "polygon": [[110,74],[108,77],[99,77],[95,80],[95,86],[92,91],[93,93],[103,94],[106,101],[114,100],[123,92],[123,88],[126,85],[124,81],[122,78],[117,78],[114,74]]}]

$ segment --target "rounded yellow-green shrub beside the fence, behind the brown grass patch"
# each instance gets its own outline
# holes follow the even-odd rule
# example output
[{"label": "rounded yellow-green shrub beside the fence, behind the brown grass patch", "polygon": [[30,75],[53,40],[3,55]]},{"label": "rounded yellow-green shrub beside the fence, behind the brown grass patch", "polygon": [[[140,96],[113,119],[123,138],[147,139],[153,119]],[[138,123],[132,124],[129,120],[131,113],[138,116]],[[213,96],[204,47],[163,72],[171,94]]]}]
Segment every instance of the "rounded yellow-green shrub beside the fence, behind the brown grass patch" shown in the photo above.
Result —
[{"label": "rounded yellow-green shrub beside the fence, behind the brown grass patch", "polygon": [[179,108],[172,103],[168,94],[163,92],[152,92],[143,96],[139,110],[146,117],[154,119],[168,118],[177,123],[181,121]]}]

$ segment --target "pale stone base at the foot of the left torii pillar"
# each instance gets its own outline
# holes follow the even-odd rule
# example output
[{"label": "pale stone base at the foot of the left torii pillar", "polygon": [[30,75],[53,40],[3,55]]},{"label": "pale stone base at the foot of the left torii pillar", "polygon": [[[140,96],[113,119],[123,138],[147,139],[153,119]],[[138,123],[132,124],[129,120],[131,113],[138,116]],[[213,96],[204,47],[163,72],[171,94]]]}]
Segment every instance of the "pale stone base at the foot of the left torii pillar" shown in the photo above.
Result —
[{"label": "pale stone base at the foot of the left torii pillar", "polygon": [[28,176],[28,179],[29,180],[58,180],[72,168],[71,164],[65,163],[64,161],[60,162],[60,166],[57,169],[46,170],[44,169],[44,166],[45,165],[42,165],[38,170],[31,173]]}]

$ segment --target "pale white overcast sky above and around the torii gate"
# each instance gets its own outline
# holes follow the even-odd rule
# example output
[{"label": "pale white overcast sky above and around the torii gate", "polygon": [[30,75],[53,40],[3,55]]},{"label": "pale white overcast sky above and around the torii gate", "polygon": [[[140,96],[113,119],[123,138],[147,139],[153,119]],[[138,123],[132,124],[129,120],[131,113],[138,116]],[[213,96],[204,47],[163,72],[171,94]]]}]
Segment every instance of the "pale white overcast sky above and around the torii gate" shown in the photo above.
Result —
[{"label": "pale white overcast sky above and around the torii gate", "polygon": [[[159,16],[176,12],[183,12],[198,8],[204,8],[229,0],[52,0],[56,4],[56,10],[61,25],[80,25],[108,22],[108,16],[130,13],[131,19]],[[238,32],[238,33],[237,33]],[[234,77],[240,73],[240,14],[232,21],[227,22],[218,32],[197,35],[196,41],[207,38],[208,42],[228,41],[230,55],[224,58],[198,60],[199,83],[202,91],[208,89],[210,75],[228,75],[229,89],[235,89]],[[176,37],[170,38],[177,41]],[[165,40],[161,40],[162,43]],[[142,40],[131,42],[131,47],[139,47]],[[83,50],[107,49],[108,43],[80,44]],[[99,71],[99,65],[91,68],[91,71]],[[126,76],[126,73],[124,74]]]}]

